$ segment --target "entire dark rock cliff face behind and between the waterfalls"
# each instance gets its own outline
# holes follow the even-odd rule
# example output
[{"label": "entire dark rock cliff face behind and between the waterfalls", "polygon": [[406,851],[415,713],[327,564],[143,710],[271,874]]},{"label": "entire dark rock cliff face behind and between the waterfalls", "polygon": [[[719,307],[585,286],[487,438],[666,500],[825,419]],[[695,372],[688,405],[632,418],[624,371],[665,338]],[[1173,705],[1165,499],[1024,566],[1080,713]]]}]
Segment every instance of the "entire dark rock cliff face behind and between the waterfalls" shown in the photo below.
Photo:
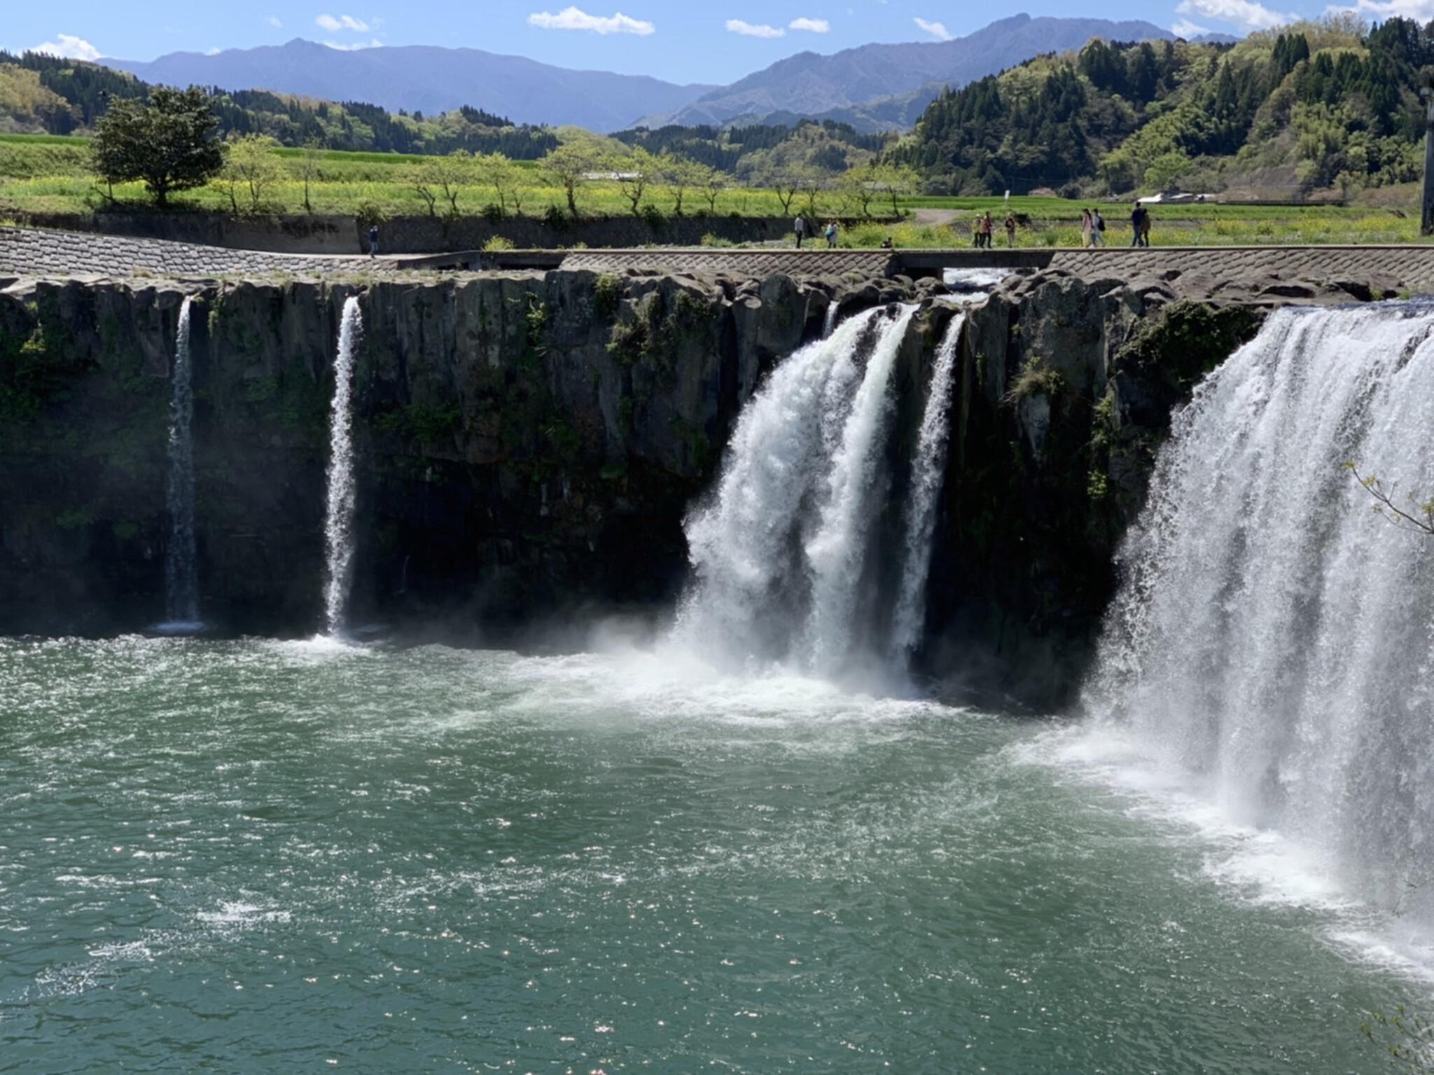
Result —
[{"label": "entire dark rock cliff face behind and between the waterfalls", "polygon": [[[1025,277],[971,310],[918,655],[951,691],[1070,697],[1172,410],[1262,317],[1156,284]],[[334,348],[356,285],[189,291],[202,615],[311,632]],[[936,292],[591,272],[363,288],[351,622],[499,644],[670,608],[688,505],[763,376],[830,304],[922,302],[895,380],[909,452],[956,310]],[[162,618],[182,298],[139,281],[0,291],[0,634]]]}]

